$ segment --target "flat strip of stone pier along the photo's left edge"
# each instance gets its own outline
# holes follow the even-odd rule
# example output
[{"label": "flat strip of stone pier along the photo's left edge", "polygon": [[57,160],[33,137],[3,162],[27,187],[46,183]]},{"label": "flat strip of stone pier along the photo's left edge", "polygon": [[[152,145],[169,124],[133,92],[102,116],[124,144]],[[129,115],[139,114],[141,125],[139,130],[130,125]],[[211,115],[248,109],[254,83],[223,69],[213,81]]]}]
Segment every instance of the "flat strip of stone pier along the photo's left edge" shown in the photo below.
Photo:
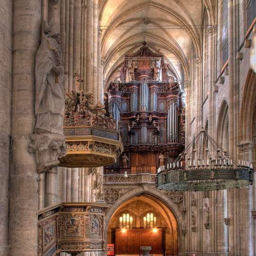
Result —
[{"label": "flat strip of stone pier along the photo's left edge", "polygon": [[[12,1],[0,0],[0,256],[8,255],[9,170],[12,89]],[[4,61],[3,61],[4,60]]]}]

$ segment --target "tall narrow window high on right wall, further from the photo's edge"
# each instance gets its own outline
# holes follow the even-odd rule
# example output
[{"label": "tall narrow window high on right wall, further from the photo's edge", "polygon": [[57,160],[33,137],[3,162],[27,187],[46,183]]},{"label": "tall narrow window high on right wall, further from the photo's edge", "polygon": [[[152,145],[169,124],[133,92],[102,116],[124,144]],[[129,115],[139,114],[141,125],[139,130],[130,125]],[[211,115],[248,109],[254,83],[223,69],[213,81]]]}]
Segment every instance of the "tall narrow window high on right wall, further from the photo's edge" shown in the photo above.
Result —
[{"label": "tall narrow window high on right wall, further from the photo's edge", "polygon": [[229,58],[229,33],[228,33],[228,0],[222,0],[221,9],[221,60],[222,66]]}]

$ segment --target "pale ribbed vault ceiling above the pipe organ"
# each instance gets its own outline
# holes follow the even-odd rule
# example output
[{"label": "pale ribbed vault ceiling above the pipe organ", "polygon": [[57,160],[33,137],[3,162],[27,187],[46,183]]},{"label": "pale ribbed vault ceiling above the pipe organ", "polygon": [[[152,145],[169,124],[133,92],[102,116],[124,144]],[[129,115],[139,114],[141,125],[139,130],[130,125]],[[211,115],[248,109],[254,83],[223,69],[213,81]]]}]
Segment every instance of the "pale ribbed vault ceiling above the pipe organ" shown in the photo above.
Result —
[{"label": "pale ribbed vault ceiling above the pipe organ", "polygon": [[178,78],[182,69],[189,76],[192,43],[200,56],[201,0],[100,0],[100,26],[105,81],[144,38],[168,58]]}]

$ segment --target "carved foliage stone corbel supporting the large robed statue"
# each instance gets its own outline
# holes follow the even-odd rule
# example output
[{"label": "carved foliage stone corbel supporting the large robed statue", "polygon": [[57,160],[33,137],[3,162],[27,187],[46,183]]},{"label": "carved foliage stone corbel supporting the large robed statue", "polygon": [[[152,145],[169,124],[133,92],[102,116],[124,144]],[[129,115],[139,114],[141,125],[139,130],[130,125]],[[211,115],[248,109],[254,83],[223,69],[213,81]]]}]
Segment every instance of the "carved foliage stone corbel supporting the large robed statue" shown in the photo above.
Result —
[{"label": "carved foliage stone corbel supporting the large robed statue", "polygon": [[45,173],[60,161],[58,158],[66,155],[65,137],[57,134],[32,134],[28,145],[28,152],[34,153],[37,162],[38,174]]}]

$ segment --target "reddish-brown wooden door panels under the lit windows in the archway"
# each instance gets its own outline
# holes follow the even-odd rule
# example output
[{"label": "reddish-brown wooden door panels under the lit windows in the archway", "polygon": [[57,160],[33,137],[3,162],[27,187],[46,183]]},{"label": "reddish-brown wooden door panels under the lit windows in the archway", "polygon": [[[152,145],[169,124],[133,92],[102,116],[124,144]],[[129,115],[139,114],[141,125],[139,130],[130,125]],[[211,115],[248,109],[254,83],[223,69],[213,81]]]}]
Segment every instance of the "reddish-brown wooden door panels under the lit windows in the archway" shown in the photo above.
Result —
[{"label": "reddish-brown wooden door panels under the lit windows in the archway", "polygon": [[120,229],[116,229],[115,234],[116,255],[142,254],[139,250],[141,246],[151,246],[150,254],[163,254],[162,230],[154,233],[152,229],[127,229],[122,233]]}]

